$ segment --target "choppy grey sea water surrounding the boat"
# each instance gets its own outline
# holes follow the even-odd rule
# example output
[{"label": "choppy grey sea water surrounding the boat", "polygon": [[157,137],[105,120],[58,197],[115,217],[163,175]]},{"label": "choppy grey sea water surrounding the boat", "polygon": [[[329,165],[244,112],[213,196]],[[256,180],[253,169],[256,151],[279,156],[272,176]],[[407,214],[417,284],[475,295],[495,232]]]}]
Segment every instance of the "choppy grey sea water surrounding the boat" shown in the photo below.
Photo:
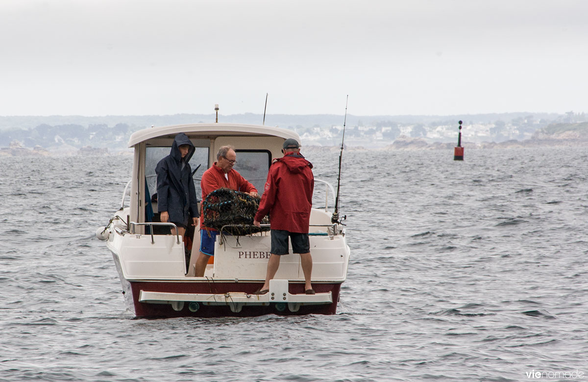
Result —
[{"label": "choppy grey sea water surrounding the boat", "polygon": [[94,233],[130,163],[0,157],[0,380],[588,378],[585,149],[346,150],[338,314],[246,319],[125,311]]}]

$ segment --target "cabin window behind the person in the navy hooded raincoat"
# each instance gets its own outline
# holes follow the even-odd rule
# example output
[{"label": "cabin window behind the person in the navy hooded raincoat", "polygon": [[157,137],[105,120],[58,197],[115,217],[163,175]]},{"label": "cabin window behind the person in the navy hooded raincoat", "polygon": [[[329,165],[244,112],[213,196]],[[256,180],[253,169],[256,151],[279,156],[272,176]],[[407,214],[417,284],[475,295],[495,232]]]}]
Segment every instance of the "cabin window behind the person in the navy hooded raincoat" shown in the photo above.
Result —
[{"label": "cabin window behind the person in the navy hooded raincoat", "polygon": [[[190,158],[190,167],[192,167],[192,171],[194,171],[196,170],[196,167],[200,165],[198,170],[192,176],[194,179],[194,186],[196,187],[196,195],[198,196],[198,199],[200,199],[202,196],[200,180],[202,178],[202,173],[208,169],[208,147],[197,147],[195,149],[196,151],[194,152],[194,155]],[[169,155],[169,150],[169,146],[150,146],[147,148],[145,153],[145,179],[147,180],[147,186],[149,187],[149,197],[152,197],[153,194],[157,192],[157,174],[155,173],[155,166],[157,166],[160,160]]]}]

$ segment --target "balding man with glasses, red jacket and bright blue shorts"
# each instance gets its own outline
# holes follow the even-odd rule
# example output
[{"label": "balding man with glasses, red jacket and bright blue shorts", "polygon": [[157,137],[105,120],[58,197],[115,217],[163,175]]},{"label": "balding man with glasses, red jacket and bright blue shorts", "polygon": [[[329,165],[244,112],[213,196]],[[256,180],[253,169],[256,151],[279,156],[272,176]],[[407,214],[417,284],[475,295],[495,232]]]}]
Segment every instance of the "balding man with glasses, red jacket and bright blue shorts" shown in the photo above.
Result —
[{"label": "balding man with glasses, red jacket and bright blue shorts", "polygon": [[[202,200],[209,193],[225,187],[235,191],[245,192],[251,196],[259,197],[257,189],[242,177],[233,166],[237,163],[237,154],[232,146],[222,146],[216,153],[216,162],[202,174],[200,186],[202,188]],[[201,206],[202,209],[202,206]],[[201,211],[203,216],[203,211]],[[208,259],[214,256],[215,238],[218,231],[204,226],[204,219],[200,223],[200,254],[196,259],[195,276],[204,276]]]}]

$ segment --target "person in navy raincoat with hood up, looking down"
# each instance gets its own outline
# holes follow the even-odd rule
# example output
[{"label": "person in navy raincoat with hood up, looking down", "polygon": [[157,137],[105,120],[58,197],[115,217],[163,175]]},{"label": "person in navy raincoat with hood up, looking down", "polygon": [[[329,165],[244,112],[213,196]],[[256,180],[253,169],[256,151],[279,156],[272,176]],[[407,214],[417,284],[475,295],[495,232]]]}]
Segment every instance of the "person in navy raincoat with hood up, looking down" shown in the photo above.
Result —
[{"label": "person in navy raincoat with hood up, looking down", "polygon": [[[157,209],[163,223],[171,222],[178,226],[178,234],[183,236],[188,227],[198,226],[200,212],[196,188],[192,179],[190,158],[195,152],[194,145],[187,135],[179,133],[173,139],[168,156],[155,167],[157,173]],[[172,229],[172,234],[175,234]]]}]

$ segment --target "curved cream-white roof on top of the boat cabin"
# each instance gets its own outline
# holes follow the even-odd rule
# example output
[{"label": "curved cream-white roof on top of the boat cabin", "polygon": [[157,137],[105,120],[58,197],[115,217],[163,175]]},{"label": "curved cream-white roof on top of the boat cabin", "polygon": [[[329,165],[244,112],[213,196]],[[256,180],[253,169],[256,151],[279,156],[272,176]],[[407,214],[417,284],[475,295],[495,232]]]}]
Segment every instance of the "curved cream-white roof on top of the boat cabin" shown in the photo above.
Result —
[{"label": "curved cream-white roof on top of the boat cabin", "polygon": [[192,123],[188,125],[155,126],[134,132],[129,139],[129,148],[152,138],[175,136],[185,133],[188,136],[277,136],[293,138],[300,142],[300,137],[293,130],[286,130],[265,125],[246,125],[243,123]]}]

